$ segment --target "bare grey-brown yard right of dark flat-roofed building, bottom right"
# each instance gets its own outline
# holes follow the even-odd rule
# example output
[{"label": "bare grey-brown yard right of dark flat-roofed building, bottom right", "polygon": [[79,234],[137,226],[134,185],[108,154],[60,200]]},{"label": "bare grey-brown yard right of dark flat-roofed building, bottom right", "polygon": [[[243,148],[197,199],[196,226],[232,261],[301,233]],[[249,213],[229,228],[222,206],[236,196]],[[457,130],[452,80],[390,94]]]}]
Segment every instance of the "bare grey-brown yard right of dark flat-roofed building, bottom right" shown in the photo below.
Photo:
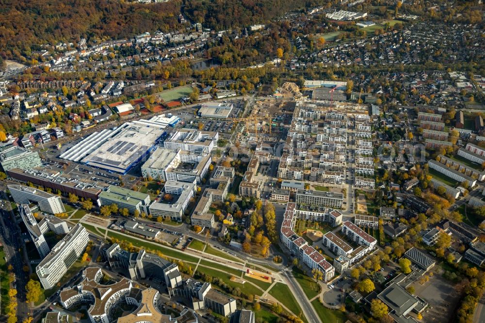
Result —
[{"label": "bare grey-brown yard right of dark flat-roofed building, bottom right", "polygon": [[435,273],[424,285],[416,282],[413,286],[415,295],[428,302],[428,308],[422,313],[422,322],[445,322],[443,318],[452,317],[460,295],[455,291],[451,282]]}]

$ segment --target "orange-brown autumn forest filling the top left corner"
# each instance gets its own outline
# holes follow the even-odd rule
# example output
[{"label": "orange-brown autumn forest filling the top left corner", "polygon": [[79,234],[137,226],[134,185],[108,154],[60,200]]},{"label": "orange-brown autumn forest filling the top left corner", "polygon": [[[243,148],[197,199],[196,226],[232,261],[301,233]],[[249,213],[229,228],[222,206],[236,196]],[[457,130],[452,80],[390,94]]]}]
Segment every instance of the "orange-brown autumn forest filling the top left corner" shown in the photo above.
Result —
[{"label": "orange-brown autumn forest filling the top left corner", "polygon": [[0,56],[30,56],[40,44],[119,39],[174,30],[181,1],[138,4],[120,0],[0,0]]}]

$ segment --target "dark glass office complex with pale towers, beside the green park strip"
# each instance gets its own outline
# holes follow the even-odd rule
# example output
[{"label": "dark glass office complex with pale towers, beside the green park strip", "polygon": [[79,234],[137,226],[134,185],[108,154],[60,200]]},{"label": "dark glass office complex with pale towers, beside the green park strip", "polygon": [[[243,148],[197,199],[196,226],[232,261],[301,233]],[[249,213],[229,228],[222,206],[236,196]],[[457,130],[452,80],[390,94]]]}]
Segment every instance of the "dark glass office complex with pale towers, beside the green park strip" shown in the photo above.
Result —
[{"label": "dark glass office complex with pale towers, beside the green park strip", "polygon": [[102,249],[101,255],[109,262],[110,267],[128,270],[132,280],[146,278],[159,280],[165,282],[165,285],[170,288],[176,288],[182,284],[182,276],[176,263],[149,254],[144,249],[139,252],[129,252],[114,243],[109,248]]}]

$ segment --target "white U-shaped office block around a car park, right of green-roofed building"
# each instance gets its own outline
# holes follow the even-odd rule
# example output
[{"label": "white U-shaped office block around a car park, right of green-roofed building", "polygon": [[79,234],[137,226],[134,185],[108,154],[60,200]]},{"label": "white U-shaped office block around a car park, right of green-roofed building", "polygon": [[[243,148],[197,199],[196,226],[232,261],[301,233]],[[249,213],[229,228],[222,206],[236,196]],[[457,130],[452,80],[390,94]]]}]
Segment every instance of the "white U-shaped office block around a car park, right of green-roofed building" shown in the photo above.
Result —
[{"label": "white U-shaped office block around a car park, right of green-roofed building", "polygon": [[169,180],[165,182],[163,191],[167,194],[175,195],[176,201],[168,204],[161,200],[154,201],[148,208],[153,216],[169,217],[172,221],[182,221],[182,214],[187,209],[190,199],[195,194],[195,183],[184,183]]}]

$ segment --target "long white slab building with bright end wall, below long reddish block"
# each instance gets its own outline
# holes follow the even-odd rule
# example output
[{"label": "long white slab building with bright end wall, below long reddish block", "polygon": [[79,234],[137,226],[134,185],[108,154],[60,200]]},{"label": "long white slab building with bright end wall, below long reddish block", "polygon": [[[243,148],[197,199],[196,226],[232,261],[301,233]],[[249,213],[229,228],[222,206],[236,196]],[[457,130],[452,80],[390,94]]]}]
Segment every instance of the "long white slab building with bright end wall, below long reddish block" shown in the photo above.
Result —
[{"label": "long white slab building with bright end wall, below long reddish block", "polygon": [[64,213],[61,197],[23,185],[7,185],[17,204],[36,203],[40,210],[51,214]]}]

